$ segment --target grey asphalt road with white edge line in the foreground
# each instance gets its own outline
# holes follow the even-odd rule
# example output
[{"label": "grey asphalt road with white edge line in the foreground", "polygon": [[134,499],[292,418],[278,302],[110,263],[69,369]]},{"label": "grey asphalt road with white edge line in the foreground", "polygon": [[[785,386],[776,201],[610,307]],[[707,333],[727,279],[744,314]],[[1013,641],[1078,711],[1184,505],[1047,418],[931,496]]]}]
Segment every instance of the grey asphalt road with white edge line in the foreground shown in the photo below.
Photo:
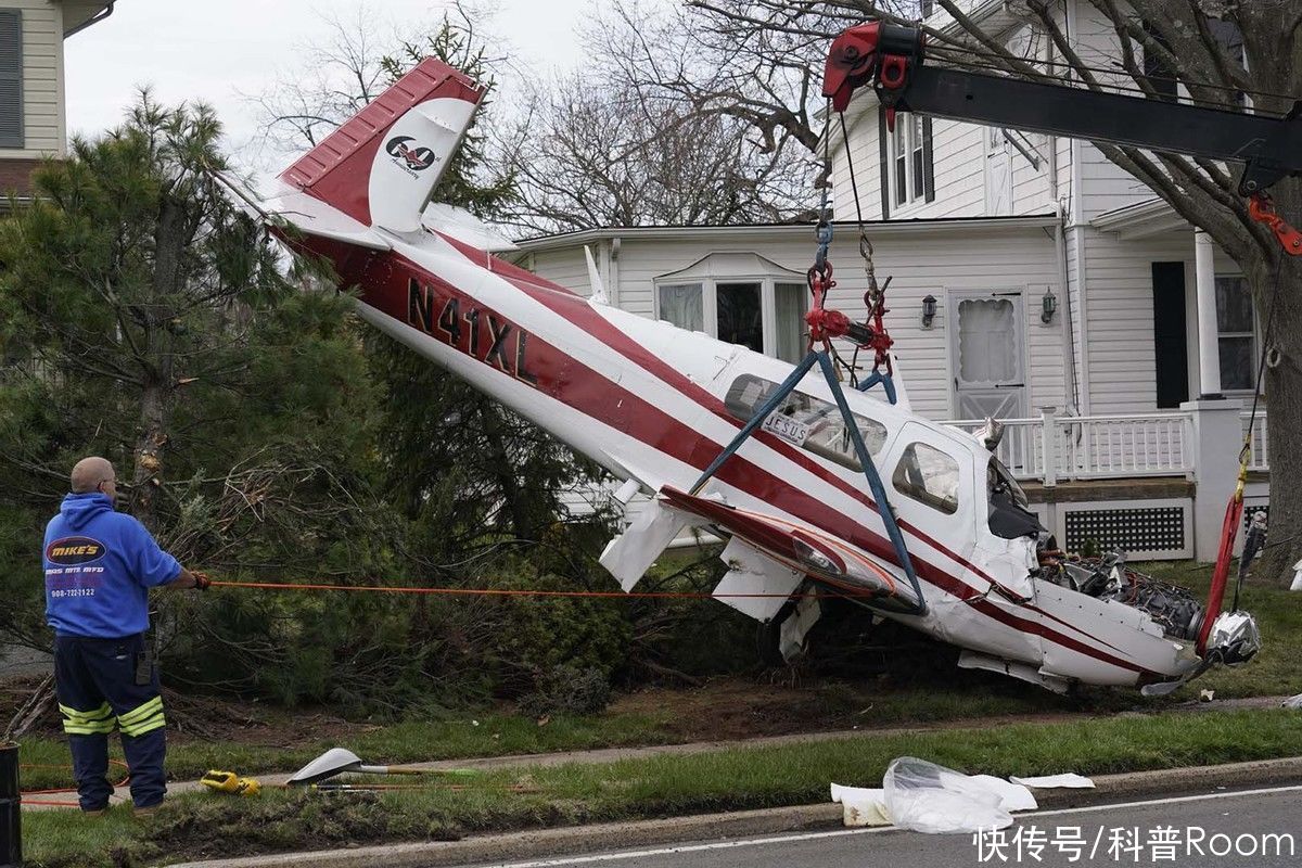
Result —
[{"label": "grey asphalt road with white edge line in the foreground", "polygon": [[1023,813],[1013,826],[1001,834],[983,835],[980,842],[970,834],[842,829],[505,864],[512,868],[1302,868],[1302,787]]}]

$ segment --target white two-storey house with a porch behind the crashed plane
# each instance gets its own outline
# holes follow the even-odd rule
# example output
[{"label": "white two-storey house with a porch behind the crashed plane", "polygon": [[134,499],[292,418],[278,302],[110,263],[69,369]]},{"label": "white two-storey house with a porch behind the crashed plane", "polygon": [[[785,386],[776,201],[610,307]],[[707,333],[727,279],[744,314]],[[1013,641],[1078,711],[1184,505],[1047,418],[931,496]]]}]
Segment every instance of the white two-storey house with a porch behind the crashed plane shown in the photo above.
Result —
[{"label": "white two-storey house with a porch behind the crashed plane", "polygon": [[[1046,56],[1008,4],[973,14]],[[1091,4],[1064,14],[1087,61],[1116,53]],[[888,131],[867,88],[846,124],[828,306],[865,314],[853,161],[913,409],[1005,419],[1001,457],[1068,547],[1213,556],[1259,340],[1233,260],[1087,142],[906,115]],[[585,246],[620,307],[790,360],[803,350],[809,225],[595,229],[525,241],[517,258],[587,293]],[[1259,422],[1255,471],[1266,449]],[[1264,480],[1249,495],[1264,505]]]}]

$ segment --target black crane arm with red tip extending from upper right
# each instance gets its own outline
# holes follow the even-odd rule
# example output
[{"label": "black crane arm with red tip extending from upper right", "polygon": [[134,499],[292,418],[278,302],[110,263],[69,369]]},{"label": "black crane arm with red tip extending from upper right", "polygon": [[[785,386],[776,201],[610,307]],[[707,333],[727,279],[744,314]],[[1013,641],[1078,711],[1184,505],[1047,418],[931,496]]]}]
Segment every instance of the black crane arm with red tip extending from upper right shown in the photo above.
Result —
[{"label": "black crane arm with red tip extending from upper right", "polygon": [[[1302,174],[1302,103],[1275,118],[927,66],[924,49],[918,27],[879,21],[850,27],[828,52],[823,95],[833,109],[845,111],[854,91],[871,85],[892,126],[896,111],[919,112],[1242,163],[1240,193],[1253,197],[1254,217],[1268,225],[1279,219],[1263,194],[1276,181]],[[1302,236],[1271,228],[1288,252],[1302,255]]]}]

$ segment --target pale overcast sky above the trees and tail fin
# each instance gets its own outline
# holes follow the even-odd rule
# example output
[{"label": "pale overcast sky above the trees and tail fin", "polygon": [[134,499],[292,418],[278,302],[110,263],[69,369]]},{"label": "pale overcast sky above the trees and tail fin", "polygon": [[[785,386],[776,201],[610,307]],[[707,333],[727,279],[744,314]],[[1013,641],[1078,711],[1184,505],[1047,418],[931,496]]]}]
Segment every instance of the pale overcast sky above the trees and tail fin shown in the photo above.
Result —
[{"label": "pale overcast sky above the trees and tail fin", "polygon": [[[490,27],[530,70],[573,68],[577,29],[599,0],[496,0]],[[328,38],[328,18],[366,9],[378,35],[421,33],[443,17],[439,0],[118,0],[105,21],[65,43],[68,129],[116,125],[135,90],[152,85],[165,103],[202,99],[217,109],[232,146],[250,165],[256,108],[277,72],[299,69],[296,51]],[[410,25],[410,30],[408,26]],[[509,94],[509,82],[500,86]],[[250,168],[253,168],[250,165]],[[259,167],[270,168],[270,167]]]}]

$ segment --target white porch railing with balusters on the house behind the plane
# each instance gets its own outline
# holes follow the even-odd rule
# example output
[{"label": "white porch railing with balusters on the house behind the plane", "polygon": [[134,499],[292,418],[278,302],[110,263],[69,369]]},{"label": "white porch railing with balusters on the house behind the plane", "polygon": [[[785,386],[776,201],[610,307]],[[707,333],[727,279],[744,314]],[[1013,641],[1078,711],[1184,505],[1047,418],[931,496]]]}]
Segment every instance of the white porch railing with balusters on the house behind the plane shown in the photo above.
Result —
[{"label": "white porch railing with balusters on the house behind the plane", "polygon": [[[1017,479],[1046,485],[1074,479],[1189,476],[1194,471],[1193,415],[1152,413],[1122,416],[1001,419],[996,454]],[[984,420],[947,422],[976,431]]]}]

